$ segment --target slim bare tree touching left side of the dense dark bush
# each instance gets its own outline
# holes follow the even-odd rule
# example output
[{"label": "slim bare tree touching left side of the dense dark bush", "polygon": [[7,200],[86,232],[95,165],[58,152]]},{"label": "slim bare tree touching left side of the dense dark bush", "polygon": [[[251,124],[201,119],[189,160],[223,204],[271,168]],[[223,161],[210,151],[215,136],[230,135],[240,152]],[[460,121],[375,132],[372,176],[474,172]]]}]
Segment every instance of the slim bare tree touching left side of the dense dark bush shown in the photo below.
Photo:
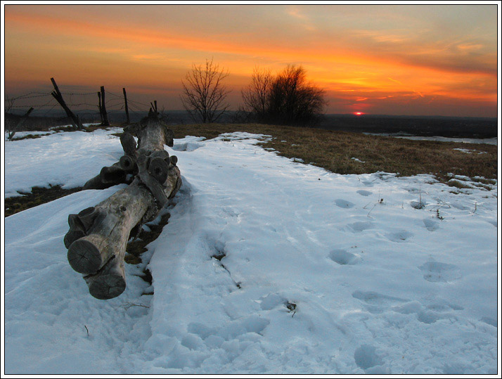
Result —
[{"label": "slim bare tree touching left side of the dense dark bush", "polygon": [[271,83],[272,75],[270,70],[260,70],[255,67],[252,72],[251,83],[240,91],[243,96],[245,110],[254,115],[258,122],[266,120]]}]

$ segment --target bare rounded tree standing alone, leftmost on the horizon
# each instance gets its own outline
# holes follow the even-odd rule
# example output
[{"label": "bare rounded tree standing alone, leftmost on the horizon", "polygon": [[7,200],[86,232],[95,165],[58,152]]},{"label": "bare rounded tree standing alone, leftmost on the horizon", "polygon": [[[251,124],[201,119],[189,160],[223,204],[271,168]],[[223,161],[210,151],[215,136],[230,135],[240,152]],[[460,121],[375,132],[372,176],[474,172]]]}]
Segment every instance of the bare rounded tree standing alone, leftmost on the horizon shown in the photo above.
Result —
[{"label": "bare rounded tree standing alone, leftmost on the horizon", "polygon": [[229,71],[220,70],[219,65],[214,64],[212,59],[206,59],[205,66],[192,65],[185,80],[181,81],[181,102],[195,122],[216,122],[229,108],[226,95],[230,91],[223,83],[228,76]]}]

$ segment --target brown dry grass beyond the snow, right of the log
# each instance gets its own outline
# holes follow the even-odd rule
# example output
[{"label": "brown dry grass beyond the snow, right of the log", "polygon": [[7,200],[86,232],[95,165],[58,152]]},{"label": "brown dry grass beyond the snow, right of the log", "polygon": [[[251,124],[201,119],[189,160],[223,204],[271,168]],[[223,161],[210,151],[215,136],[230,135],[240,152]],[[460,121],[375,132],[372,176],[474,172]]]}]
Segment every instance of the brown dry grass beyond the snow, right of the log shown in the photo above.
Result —
[{"label": "brown dry grass beyond the snow, right of the log", "polygon": [[[306,163],[339,174],[378,171],[396,172],[400,176],[433,174],[442,181],[450,179],[449,173],[486,179],[497,177],[497,147],[492,145],[412,141],[347,131],[262,124],[193,124],[176,125],[172,129],[175,138],[192,135],[212,139],[231,131],[269,134],[275,138],[262,143],[265,148],[274,148],[279,155],[301,158]],[[484,153],[453,150],[459,147]]]}]

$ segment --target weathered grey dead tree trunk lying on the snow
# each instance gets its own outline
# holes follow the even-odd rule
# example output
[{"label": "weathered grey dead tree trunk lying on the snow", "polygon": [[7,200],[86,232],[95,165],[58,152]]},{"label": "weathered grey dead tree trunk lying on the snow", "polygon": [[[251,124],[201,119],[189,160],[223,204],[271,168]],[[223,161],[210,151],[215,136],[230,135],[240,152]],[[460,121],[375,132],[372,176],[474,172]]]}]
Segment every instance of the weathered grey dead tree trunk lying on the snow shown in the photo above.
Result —
[{"label": "weathered grey dead tree trunk lying on the snow", "polygon": [[164,144],[172,146],[172,131],[152,114],[136,132],[138,148],[131,134],[124,133],[128,136],[121,142],[127,158],[116,164],[136,165],[132,183],[95,207],[68,217],[70,230],[64,239],[68,262],[84,274],[89,293],[102,300],[125,289],[124,255],[131,230],[153,219],[181,186],[177,159],[164,150]]}]

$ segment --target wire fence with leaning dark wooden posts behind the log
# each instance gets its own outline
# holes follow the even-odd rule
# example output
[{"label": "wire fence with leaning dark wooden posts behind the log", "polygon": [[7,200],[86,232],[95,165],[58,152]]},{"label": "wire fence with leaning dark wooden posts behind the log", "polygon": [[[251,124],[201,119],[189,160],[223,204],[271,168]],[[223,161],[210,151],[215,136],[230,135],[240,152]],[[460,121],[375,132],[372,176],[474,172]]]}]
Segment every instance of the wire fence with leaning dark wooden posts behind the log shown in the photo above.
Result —
[{"label": "wire fence with leaning dark wooden posts behind the log", "polygon": [[[38,124],[44,124],[46,122],[52,124],[70,124],[71,122],[65,110],[61,108],[61,105],[56,101],[56,98],[51,95],[51,92],[52,91],[32,91],[15,97],[6,95],[4,100],[6,123],[9,121],[8,116],[16,119],[18,116],[25,115],[30,108],[33,108],[29,117],[30,121],[24,124],[33,124],[34,122],[38,122]],[[102,121],[99,109],[98,91],[61,92],[61,94],[68,108],[70,108],[75,115],[78,115],[83,124]],[[105,99],[104,106],[108,115],[108,120],[110,122],[126,122],[127,115],[125,112],[124,96],[105,91]],[[148,113],[150,104],[138,101],[134,98],[134,94],[132,97],[127,94],[127,108],[130,122],[136,122]],[[41,120],[41,118],[47,120]],[[15,122],[15,120],[13,120],[13,122]]]}]

